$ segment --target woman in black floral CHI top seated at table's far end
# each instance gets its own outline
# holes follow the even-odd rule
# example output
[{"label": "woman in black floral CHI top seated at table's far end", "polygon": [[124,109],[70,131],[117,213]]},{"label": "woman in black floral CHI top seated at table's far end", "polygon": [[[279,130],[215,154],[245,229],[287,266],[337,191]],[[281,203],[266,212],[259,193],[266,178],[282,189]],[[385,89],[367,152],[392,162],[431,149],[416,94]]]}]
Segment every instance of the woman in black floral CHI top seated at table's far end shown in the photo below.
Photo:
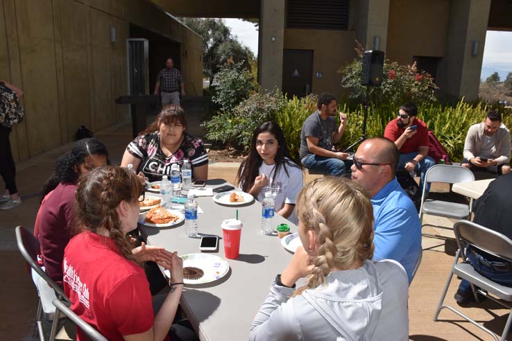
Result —
[{"label": "woman in black floral CHI top seated at table's far end", "polygon": [[[178,105],[167,105],[155,122],[128,144],[121,166],[133,164],[137,173],[144,173],[149,181],[171,176],[172,164],[189,160],[194,179],[207,180],[208,155],[203,141],[187,134],[185,112]],[[142,175],[142,174],[139,174]]]}]

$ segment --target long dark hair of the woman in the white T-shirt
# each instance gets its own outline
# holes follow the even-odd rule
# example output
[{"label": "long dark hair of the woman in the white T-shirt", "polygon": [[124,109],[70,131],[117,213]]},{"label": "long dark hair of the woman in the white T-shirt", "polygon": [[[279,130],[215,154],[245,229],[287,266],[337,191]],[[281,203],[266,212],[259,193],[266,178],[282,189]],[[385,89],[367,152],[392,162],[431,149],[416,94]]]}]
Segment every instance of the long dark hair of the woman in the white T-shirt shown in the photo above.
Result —
[{"label": "long dark hair of the woman in the white T-shirt", "polygon": [[256,140],[259,134],[262,132],[269,132],[275,136],[278,140],[278,153],[274,157],[274,176],[278,175],[281,168],[287,173],[287,166],[302,168],[300,164],[294,159],[288,150],[287,140],[284,139],[284,134],[278,123],[265,122],[260,125],[253,134],[253,139],[250,141],[249,155],[241,162],[240,168],[238,168],[237,179],[235,182],[242,185],[242,191],[248,192],[253,187],[255,177],[259,174],[259,167],[262,166],[263,159],[259,156],[256,150]]}]

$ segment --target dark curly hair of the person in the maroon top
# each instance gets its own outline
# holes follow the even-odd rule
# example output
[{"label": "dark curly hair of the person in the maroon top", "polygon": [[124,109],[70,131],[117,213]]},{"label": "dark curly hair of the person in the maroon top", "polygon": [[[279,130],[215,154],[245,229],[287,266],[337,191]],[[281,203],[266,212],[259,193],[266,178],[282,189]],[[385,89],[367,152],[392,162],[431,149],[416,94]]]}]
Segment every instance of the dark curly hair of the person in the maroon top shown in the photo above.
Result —
[{"label": "dark curly hair of the person in the maroon top", "polygon": [[46,180],[41,189],[41,200],[44,199],[46,194],[53,191],[58,184],[76,184],[80,173],[76,171],[76,168],[83,164],[85,158],[89,155],[105,155],[108,161],[107,147],[99,139],[94,137],[89,139],[81,139],[76,141],[65,154],[60,155],[55,161],[55,170],[53,175]]}]

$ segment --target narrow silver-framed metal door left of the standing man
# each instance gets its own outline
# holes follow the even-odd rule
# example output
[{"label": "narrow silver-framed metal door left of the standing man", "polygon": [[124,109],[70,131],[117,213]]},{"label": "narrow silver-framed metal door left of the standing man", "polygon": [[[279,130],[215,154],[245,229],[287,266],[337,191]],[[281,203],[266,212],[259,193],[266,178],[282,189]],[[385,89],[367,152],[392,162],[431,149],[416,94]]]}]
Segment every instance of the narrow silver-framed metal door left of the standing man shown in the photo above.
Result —
[{"label": "narrow silver-framed metal door left of the standing man", "polygon": [[128,39],[128,91],[130,95],[149,94],[149,41]]}]

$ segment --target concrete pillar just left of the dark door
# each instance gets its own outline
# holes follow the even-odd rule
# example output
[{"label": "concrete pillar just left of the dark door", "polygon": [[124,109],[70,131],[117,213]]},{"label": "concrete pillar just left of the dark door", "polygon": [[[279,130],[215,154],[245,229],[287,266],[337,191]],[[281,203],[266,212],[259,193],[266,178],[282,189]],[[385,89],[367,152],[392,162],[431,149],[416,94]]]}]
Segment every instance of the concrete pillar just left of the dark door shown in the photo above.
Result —
[{"label": "concrete pillar just left of the dark door", "polygon": [[264,90],[282,87],[285,0],[262,0],[259,19],[259,84]]}]

